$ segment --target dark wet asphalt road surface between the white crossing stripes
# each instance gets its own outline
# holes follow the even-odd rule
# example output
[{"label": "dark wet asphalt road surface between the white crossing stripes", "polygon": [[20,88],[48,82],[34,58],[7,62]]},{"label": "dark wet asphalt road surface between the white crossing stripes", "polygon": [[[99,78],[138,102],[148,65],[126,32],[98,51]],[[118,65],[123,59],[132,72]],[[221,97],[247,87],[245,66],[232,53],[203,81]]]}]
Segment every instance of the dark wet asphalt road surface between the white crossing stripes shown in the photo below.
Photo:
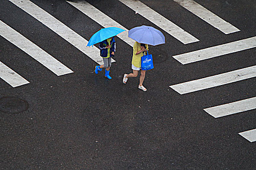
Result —
[{"label": "dark wet asphalt road surface between the white crossing stripes", "polygon": [[[85,39],[101,26],[64,0],[31,0]],[[127,29],[154,23],[118,0],[87,0]],[[215,119],[203,108],[256,96],[256,79],[184,95],[175,85],[256,65],[256,49],[187,65],[172,58],[256,36],[255,0],[195,0],[240,32],[223,34],[172,0],[141,0],[200,39],[184,45],[162,31],[166,44],[150,47],[155,68],[143,92],[131,72],[132,47],[119,38],[107,80],[91,73],[95,63],[72,44],[8,0],[0,20],[58,59],[74,73],[56,76],[0,36],[0,61],[30,84],[11,87],[0,79],[0,98],[28,102],[19,114],[0,112],[2,170],[256,170],[256,142],[239,132],[256,128],[256,110]],[[86,44],[85,44],[86,45]],[[158,55],[161,57],[158,57]]]}]

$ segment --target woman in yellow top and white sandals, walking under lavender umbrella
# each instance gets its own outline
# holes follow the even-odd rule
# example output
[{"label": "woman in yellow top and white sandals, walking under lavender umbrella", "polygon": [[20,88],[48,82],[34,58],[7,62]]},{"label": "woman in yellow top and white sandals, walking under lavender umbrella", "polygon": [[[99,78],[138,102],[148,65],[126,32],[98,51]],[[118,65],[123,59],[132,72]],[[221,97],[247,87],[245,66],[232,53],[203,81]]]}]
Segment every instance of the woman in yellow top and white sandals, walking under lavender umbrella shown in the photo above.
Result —
[{"label": "woman in yellow top and white sandals, walking under lavender umbrella", "polygon": [[123,83],[126,84],[128,78],[130,77],[137,77],[138,71],[140,70],[140,77],[139,77],[139,85],[138,88],[147,91],[147,89],[142,85],[145,79],[146,70],[141,70],[141,57],[143,53],[148,50],[147,44],[138,43],[137,41],[133,45],[133,58],[132,58],[132,69],[133,73],[124,74],[123,76]]}]

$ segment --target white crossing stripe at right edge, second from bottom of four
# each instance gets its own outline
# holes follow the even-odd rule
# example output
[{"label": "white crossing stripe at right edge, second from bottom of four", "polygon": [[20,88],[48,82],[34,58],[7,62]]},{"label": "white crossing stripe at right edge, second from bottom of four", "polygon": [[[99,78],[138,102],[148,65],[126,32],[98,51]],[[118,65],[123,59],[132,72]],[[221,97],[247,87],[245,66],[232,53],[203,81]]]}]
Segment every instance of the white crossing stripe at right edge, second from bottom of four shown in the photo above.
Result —
[{"label": "white crossing stripe at right edge, second from bottom of four", "polygon": [[256,109],[256,97],[203,109],[214,118]]}]

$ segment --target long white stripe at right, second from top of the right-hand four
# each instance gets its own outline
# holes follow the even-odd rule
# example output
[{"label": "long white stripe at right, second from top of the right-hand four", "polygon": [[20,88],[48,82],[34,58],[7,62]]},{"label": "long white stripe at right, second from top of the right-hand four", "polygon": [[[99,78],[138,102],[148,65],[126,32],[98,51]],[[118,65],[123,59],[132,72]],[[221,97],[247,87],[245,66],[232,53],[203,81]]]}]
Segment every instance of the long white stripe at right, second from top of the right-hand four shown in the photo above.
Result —
[{"label": "long white stripe at right, second from top of the right-hand four", "polygon": [[193,80],[190,82],[180,83],[177,85],[170,85],[170,87],[177,91],[179,94],[185,94],[206,88],[216,87],[219,85],[226,85],[252,77],[256,77],[256,66],[237,69],[235,71]]}]

